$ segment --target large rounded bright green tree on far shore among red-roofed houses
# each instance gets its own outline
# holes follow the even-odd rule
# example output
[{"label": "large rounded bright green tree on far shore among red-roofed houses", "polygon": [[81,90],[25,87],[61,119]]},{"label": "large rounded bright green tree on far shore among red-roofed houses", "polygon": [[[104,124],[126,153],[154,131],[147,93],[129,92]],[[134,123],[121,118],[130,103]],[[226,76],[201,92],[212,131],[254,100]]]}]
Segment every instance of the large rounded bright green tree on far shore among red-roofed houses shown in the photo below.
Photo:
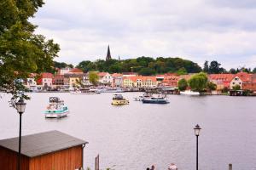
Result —
[{"label": "large rounded bright green tree on far shore among red-roofed houses", "polygon": [[189,79],[189,87],[193,91],[202,92],[207,88],[207,74],[204,72],[197,73]]}]

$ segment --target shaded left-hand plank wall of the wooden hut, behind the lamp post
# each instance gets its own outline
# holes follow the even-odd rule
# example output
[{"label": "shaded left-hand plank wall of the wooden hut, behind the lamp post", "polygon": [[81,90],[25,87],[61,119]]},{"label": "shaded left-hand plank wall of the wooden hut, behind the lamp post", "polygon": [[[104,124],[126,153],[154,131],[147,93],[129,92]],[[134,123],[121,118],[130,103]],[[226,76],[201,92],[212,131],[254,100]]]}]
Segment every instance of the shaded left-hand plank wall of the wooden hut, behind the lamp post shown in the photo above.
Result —
[{"label": "shaded left-hand plank wall of the wooden hut, behind the lamp post", "polygon": [[[18,154],[15,151],[8,150],[0,146],[0,169],[17,170]],[[21,157],[20,170],[29,170],[28,157]]]}]

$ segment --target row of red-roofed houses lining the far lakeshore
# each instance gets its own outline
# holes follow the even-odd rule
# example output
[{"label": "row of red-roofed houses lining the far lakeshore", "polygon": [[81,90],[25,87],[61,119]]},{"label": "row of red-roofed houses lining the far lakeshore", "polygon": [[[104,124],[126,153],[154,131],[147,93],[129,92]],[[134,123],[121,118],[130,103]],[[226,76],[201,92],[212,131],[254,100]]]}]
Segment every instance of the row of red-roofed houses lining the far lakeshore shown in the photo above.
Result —
[{"label": "row of red-roofed houses lining the far lakeshore", "polygon": [[[105,88],[124,88],[128,91],[138,91],[144,88],[173,88],[177,89],[177,82],[181,79],[189,80],[194,74],[178,76],[175,73],[166,73],[156,76],[140,76],[136,72],[113,73],[96,72],[98,86]],[[44,72],[40,75],[31,74],[24,81],[26,88],[32,92],[40,91],[70,91],[74,88],[91,87],[90,73],[78,68],[59,69],[54,75]],[[236,74],[209,74],[208,82],[216,84],[214,93],[226,89],[233,89],[239,85],[241,90],[256,92],[256,74],[239,72]]]}]

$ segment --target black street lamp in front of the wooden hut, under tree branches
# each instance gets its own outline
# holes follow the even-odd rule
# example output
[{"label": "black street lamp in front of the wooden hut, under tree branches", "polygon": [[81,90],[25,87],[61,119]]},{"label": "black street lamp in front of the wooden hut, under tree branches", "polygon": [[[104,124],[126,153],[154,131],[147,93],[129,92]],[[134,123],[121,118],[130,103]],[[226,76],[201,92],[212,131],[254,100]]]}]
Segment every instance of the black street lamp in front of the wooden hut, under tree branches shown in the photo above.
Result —
[{"label": "black street lamp in front of the wooden hut, under tree branches", "polygon": [[20,133],[19,133],[19,158],[18,158],[18,170],[20,170],[20,148],[21,148],[21,116],[25,111],[26,103],[23,99],[19,99],[17,103],[15,103],[16,110],[20,115]]}]

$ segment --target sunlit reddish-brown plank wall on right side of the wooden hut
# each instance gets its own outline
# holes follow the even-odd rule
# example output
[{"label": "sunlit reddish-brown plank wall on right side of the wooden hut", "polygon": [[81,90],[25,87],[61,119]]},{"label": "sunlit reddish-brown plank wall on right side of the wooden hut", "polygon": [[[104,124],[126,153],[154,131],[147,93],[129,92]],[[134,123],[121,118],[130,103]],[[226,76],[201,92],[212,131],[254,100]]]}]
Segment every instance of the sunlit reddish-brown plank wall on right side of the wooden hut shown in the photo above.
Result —
[{"label": "sunlit reddish-brown plank wall on right side of the wooden hut", "polygon": [[29,170],[74,170],[82,167],[82,145],[31,158]]}]

